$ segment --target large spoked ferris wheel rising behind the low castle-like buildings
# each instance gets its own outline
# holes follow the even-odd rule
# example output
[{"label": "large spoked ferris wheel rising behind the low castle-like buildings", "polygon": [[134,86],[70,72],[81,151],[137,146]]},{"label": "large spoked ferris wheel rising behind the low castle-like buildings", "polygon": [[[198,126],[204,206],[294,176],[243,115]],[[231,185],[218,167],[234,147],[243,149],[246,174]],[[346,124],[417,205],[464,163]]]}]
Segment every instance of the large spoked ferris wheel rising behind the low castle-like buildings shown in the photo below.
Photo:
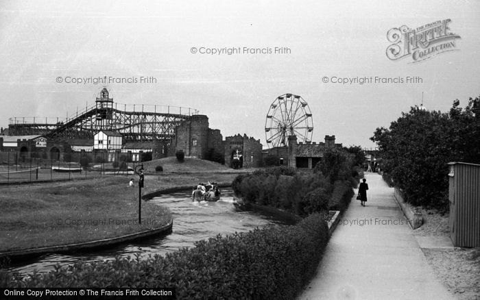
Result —
[{"label": "large spoked ferris wheel rising behind the low castle-like buildings", "polygon": [[307,101],[293,94],[278,96],[270,105],[265,121],[265,138],[269,147],[287,145],[289,136],[310,142],[313,118]]}]

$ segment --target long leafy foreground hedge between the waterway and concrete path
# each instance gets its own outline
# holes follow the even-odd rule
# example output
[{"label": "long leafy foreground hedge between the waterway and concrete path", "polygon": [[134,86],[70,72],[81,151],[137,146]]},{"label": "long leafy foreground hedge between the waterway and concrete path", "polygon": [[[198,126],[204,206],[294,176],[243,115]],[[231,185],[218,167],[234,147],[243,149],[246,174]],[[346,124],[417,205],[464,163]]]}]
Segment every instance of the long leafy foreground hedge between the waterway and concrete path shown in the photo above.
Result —
[{"label": "long leafy foreground hedge between the waterway and concrete path", "polygon": [[4,287],[171,287],[177,299],[294,299],[315,273],[328,242],[320,214],[296,226],[210,238],[145,260],[77,262],[26,279],[0,271]]}]

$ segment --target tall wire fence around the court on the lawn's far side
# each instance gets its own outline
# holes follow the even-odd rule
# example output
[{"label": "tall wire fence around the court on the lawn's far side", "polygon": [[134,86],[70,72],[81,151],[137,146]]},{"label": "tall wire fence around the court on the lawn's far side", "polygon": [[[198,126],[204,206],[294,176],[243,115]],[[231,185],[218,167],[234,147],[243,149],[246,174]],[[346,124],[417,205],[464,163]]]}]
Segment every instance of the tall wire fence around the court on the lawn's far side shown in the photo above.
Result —
[{"label": "tall wire fence around the court on the lawn's far side", "polygon": [[[51,156],[48,158],[48,156]],[[109,152],[0,152],[0,183],[134,175],[141,162],[125,153]]]}]

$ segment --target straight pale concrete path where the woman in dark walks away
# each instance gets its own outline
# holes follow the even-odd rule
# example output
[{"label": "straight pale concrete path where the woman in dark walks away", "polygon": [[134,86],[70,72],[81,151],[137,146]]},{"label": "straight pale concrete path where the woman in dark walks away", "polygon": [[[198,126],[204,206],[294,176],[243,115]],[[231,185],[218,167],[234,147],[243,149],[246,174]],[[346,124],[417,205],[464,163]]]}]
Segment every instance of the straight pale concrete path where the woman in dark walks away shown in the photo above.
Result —
[{"label": "straight pale concrete path where the woman in dark walks away", "polygon": [[393,188],[378,174],[365,178],[366,207],[352,199],[298,299],[454,299],[425,260]]}]

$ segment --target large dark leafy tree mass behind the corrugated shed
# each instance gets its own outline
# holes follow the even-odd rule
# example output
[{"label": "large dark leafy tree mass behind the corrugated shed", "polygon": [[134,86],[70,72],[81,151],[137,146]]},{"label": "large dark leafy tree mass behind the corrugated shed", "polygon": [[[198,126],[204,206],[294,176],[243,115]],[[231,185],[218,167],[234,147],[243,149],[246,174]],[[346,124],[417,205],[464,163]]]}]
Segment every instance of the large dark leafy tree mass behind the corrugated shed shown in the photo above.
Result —
[{"label": "large dark leafy tree mass behind the corrugated shed", "polygon": [[451,161],[480,163],[480,99],[449,113],[411,108],[370,138],[379,145],[383,169],[414,205],[448,208]]}]

